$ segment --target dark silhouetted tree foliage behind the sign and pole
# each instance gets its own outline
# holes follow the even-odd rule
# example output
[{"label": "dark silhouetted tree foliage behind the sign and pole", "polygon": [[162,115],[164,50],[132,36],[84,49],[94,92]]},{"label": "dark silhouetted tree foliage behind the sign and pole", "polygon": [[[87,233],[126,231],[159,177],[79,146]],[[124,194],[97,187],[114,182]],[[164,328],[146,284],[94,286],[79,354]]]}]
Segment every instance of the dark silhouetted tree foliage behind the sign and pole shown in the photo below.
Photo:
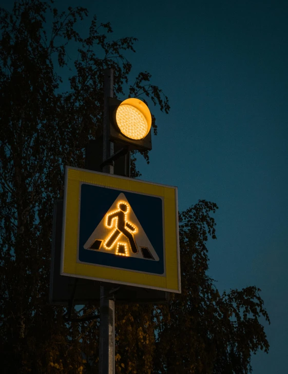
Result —
[{"label": "dark silhouetted tree foliage behind the sign and pole", "polygon": [[[97,371],[98,309],[73,311],[74,316],[93,313],[92,321],[65,322],[66,309],[47,301],[53,201],[63,194],[64,165],[83,167],[86,142],[101,132],[103,70],[114,69],[116,95],[126,89],[169,111],[167,97],[150,83],[149,73],[129,84],[131,64],[124,53],[134,51],[136,39],[111,40],[110,24],[95,16],[84,37],[77,26],[87,15],[81,7],[59,12],[52,2],[40,0],[20,0],[11,13],[0,13],[0,352],[5,373]],[[78,50],[74,62],[71,45]],[[68,73],[65,84],[61,76]],[[153,128],[156,133],[155,117]],[[132,171],[139,175],[135,155]],[[220,295],[207,275],[206,242],[208,235],[216,239],[211,216],[216,209],[201,200],[179,214],[181,294],[165,306],[117,307],[117,373],[242,374],[251,370],[252,353],[267,352],[259,319],[269,319],[260,290]]]}]

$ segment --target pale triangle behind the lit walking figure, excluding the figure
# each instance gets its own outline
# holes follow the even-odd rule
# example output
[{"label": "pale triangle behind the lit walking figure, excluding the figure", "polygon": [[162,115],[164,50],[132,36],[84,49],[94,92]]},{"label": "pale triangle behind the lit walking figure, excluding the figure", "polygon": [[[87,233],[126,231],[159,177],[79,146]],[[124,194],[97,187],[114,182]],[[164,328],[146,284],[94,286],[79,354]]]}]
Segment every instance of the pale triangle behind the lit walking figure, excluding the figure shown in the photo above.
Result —
[{"label": "pale triangle behind the lit walking figure, excluding the figure", "polygon": [[[110,250],[105,248],[105,245],[104,245],[104,243],[107,242],[107,239],[109,238],[109,235],[111,235],[112,230],[114,230],[113,228],[108,227],[105,224],[106,219],[107,219],[107,214],[111,213],[113,211],[119,210],[118,203],[120,201],[123,201],[126,204],[128,204],[129,212],[127,213],[128,214],[127,221],[130,222],[133,226],[135,226],[137,228],[137,233],[135,233],[133,235],[133,237],[135,239],[135,242],[137,244],[137,247],[138,247],[138,252],[137,253],[133,253],[131,251],[129,241],[128,241],[127,237],[125,237],[125,235],[123,235],[123,234],[121,234],[120,239],[117,240],[117,242],[113,246],[111,246]],[[91,245],[95,242],[95,240],[102,241],[100,249],[90,248]],[[90,235],[90,237],[88,238],[86,243],[84,244],[84,249],[91,249],[91,250],[95,250],[97,252],[112,253],[112,254],[119,255],[119,253],[117,253],[117,245],[118,245],[119,242],[120,242],[120,244],[126,244],[125,245],[125,252],[126,252],[127,257],[134,257],[134,258],[138,258],[138,259],[142,259],[142,260],[149,260],[149,261],[159,261],[159,257],[157,255],[155,249],[153,248],[152,244],[150,243],[145,231],[143,230],[136,214],[133,212],[133,209],[130,206],[130,204],[129,204],[128,200],[126,199],[126,196],[123,192],[121,192],[118,195],[118,198],[114,201],[114,203],[111,205],[111,207],[107,210],[103,219],[100,221],[100,223],[97,225],[97,227],[94,229],[94,231],[92,232],[92,234]],[[148,251],[152,255],[153,259],[147,259],[147,258],[143,257],[143,252],[142,252],[141,247],[148,249]],[[124,256],[125,256],[125,254],[124,254]]]}]

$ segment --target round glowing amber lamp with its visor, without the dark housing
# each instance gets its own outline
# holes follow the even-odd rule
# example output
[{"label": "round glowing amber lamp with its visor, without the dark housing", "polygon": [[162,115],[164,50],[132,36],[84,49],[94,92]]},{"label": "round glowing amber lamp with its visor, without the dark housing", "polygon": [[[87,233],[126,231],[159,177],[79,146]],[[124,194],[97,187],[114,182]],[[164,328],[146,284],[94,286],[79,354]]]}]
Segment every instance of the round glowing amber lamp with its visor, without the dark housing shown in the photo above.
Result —
[{"label": "round glowing amber lamp with its visor, without the dark housing", "polygon": [[151,113],[139,99],[124,100],[116,111],[116,122],[123,135],[130,139],[143,139],[151,128]]}]

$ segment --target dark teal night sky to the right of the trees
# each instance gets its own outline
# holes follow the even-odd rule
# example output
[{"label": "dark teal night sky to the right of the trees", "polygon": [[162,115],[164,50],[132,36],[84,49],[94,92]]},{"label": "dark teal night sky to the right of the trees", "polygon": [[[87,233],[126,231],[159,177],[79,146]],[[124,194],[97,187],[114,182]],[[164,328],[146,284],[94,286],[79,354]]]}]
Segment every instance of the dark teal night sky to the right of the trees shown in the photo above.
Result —
[{"label": "dark teal night sky to the right of the trees", "polygon": [[253,371],[286,372],[288,2],[55,1],[66,5],[111,22],[113,38],[139,39],[131,75],[149,71],[171,106],[150,105],[159,131],[150,164],[138,158],[141,179],[178,186],[180,210],[218,204],[209,275],[220,291],[262,289],[271,348]]}]

